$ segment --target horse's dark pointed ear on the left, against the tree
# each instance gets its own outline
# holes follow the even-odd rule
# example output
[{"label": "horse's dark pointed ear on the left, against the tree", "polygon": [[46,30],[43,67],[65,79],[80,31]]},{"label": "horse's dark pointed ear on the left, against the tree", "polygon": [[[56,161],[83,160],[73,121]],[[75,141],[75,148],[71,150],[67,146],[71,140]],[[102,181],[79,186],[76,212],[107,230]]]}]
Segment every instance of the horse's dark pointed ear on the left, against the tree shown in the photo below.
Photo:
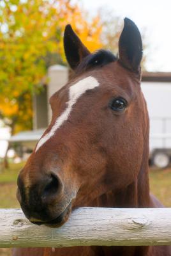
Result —
[{"label": "horse's dark pointed ear on the left, against the tree", "polygon": [[67,25],[64,30],[64,52],[66,60],[74,70],[80,61],[90,54],[89,50],[82,44],[80,38],[75,34],[71,25]]}]

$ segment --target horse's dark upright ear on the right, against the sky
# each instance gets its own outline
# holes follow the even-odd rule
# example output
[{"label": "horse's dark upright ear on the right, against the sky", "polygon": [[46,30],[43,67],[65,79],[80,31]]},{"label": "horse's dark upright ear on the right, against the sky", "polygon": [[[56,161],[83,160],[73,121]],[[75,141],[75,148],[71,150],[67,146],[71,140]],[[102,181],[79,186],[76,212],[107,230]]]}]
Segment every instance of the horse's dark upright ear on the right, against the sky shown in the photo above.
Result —
[{"label": "horse's dark upright ear on the right, against the sky", "polygon": [[119,38],[119,62],[134,72],[140,72],[142,38],[135,23],[124,19],[124,28]]}]

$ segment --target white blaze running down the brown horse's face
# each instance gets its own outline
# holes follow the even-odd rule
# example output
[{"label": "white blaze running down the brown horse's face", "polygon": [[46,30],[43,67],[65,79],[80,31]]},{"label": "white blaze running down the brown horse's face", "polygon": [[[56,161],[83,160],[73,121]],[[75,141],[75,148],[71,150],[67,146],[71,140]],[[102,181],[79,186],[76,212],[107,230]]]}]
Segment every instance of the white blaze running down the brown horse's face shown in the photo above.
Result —
[{"label": "white blaze running down the brown horse's face", "polygon": [[36,151],[47,141],[49,140],[54,134],[56,133],[57,129],[61,127],[61,125],[68,119],[68,116],[71,113],[73,105],[77,102],[78,98],[87,90],[91,90],[95,87],[99,86],[98,81],[92,77],[86,77],[76,84],[73,84],[69,89],[69,100],[67,102],[67,108],[64,112],[59,116],[52,126],[51,130],[43,136],[36,146]]}]

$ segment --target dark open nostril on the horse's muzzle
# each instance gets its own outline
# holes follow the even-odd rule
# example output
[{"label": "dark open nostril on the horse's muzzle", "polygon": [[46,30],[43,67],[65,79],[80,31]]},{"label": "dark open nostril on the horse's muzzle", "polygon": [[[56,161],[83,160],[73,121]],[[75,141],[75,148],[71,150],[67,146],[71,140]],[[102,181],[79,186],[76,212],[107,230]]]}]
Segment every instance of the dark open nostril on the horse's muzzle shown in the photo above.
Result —
[{"label": "dark open nostril on the horse's muzzle", "polygon": [[51,173],[48,183],[42,191],[41,199],[48,200],[48,198],[53,198],[54,195],[57,195],[60,188],[61,182],[54,173]]}]

